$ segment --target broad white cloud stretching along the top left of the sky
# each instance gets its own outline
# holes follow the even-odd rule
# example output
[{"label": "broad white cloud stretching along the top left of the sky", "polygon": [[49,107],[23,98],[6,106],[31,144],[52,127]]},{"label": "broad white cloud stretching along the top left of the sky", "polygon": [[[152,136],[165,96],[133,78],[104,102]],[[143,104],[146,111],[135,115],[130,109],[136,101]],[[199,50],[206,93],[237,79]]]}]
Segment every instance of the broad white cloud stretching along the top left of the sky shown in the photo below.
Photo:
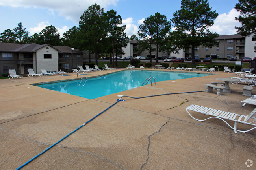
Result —
[{"label": "broad white cloud stretching along the top left of the sky", "polygon": [[109,5],[116,5],[118,0],[1,0],[1,6],[43,8],[48,9],[48,14],[58,13],[67,20],[78,23],[80,16],[90,5],[99,4],[105,10]]}]

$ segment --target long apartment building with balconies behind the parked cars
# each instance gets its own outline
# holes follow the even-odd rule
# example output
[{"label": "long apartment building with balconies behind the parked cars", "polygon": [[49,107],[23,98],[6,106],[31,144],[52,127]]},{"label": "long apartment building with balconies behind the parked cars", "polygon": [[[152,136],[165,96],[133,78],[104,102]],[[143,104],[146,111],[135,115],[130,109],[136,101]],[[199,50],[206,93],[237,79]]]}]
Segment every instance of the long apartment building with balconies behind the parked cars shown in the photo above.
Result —
[{"label": "long apartment building with balconies behind the parked cars", "polygon": [[[204,58],[206,55],[217,55],[218,58],[229,58],[230,56],[236,56],[237,59],[241,59],[243,57],[254,58],[254,46],[256,46],[256,39],[251,36],[241,36],[239,34],[234,35],[220,35],[216,38],[219,41],[219,46],[214,46],[212,48],[208,48],[205,46],[199,46],[195,48],[195,57]],[[128,46],[123,48],[126,56],[147,56],[149,52],[147,50],[142,51],[141,54],[137,54],[135,48],[137,48],[137,41],[129,41]],[[156,47],[155,44],[152,47]],[[152,55],[156,55],[156,51],[152,52]],[[191,48],[183,51],[180,50],[178,54],[168,54],[166,52],[159,52],[159,57],[191,57]]]}]

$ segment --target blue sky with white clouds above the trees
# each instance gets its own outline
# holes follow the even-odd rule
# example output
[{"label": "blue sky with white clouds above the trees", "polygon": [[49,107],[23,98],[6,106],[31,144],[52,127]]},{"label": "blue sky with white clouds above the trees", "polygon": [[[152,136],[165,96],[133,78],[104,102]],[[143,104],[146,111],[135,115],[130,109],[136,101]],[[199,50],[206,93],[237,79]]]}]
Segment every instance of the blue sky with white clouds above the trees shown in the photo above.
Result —
[{"label": "blue sky with white clouds above the trees", "polygon": [[[13,30],[21,22],[30,36],[49,25],[56,27],[62,36],[72,27],[78,27],[80,16],[95,3],[104,11],[117,11],[129,37],[137,35],[139,25],[150,15],[158,12],[170,20],[181,6],[181,0],[0,0],[0,33]],[[210,31],[219,35],[236,34],[235,26],[241,23],[235,20],[240,13],[234,7],[239,1],[208,0],[208,3],[219,14]]]}]

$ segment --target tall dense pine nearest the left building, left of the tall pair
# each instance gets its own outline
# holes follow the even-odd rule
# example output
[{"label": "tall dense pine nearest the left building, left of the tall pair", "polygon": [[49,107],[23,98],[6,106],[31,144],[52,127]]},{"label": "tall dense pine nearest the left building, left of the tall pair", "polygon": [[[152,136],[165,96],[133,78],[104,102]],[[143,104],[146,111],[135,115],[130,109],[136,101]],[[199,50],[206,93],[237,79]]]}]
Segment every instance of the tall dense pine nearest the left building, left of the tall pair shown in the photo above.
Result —
[{"label": "tall dense pine nearest the left building, left of the tall pair", "polygon": [[79,21],[80,43],[83,50],[95,53],[96,65],[98,65],[98,55],[104,49],[102,42],[107,37],[107,18],[103,14],[104,9],[101,9],[98,4],[93,4],[84,11]]}]

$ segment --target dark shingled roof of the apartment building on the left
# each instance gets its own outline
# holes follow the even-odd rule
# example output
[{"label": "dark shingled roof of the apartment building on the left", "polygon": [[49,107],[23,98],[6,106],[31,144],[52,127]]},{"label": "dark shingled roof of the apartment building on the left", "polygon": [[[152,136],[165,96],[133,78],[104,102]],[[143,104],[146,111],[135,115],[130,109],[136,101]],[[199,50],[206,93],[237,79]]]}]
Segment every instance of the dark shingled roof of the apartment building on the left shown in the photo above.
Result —
[{"label": "dark shingled roof of the apartment building on the left", "polygon": [[[51,46],[50,44],[20,44],[20,43],[6,43],[6,42],[0,42],[0,51],[1,52],[27,52],[32,53],[37,51],[40,48],[43,48],[45,46]],[[52,48],[56,49],[59,53],[72,53],[71,47],[68,46],[51,46]],[[74,54],[82,54],[82,51],[79,51],[78,49],[73,50]]]}]

